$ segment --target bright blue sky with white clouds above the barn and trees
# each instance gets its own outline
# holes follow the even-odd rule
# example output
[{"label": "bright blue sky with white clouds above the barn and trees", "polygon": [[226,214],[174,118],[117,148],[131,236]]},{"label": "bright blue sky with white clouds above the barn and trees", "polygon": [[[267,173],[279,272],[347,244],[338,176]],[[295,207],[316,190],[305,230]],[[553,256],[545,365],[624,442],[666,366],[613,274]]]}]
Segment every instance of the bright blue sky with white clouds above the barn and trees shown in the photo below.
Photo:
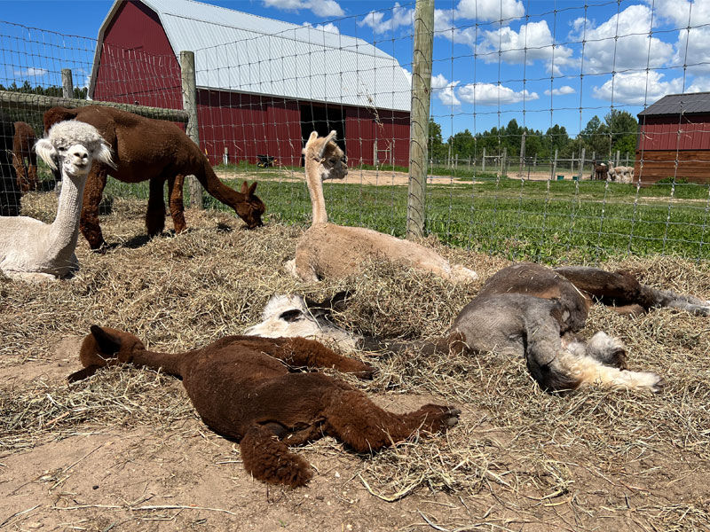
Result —
[{"label": "bright blue sky with white clouds above the barn and trees", "polygon": [[[411,71],[414,3],[207,3],[357,35]],[[93,39],[112,4],[2,0],[0,20]],[[438,0],[436,8],[431,113],[445,135],[512,118],[543,131],[559,123],[576,134],[612,107],[636,114],[664,94],[710,90],[710,0]],[[4,49],[7,28],[0,26]],[[78,42],[71,46],[91,45]],[[22,74],[43,82],[40,70],[13,72],[4,82]]]}]

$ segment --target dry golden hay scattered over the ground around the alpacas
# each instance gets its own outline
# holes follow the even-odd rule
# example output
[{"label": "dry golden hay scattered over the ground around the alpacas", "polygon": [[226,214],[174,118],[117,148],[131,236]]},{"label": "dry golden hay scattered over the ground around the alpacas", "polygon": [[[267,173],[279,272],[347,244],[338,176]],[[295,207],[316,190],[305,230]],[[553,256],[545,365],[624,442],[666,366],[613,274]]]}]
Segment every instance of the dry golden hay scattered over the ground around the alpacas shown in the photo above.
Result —
[{"label": "dry golden hay scattered over the ground around the alpacas", "polygon": [[[43,211],[39,197],[28,199],[33,213]],[[45,216],[51,216],[51,200],[47,204]],[[78,361],[74,348],[60,341],[80,337],[91,324],[135,332],[166,351],[194,348],[256,323],[272,293],[323,298],[347,287],[355,294],[337,316],[340,325],[421,339],[446,329],[480,286],[451,286],[385,263],[368,264],[360,275],[342,281],[304,285],[281,268],[291,258],[301,228],[272,223],[243,231],[230,215],[188,211],[191,231],[146,241],[141,237],[144,209],[142,202],[114,200],[104,225],[106,234],[122,245],[99,255],[81,241],[81,270],[70,282],[40,289],[0,279],[0,471],[12,469],[7,464],[14,458],[44,452],[77,434],[137,433],[146,442],[200,434],[209,447],[184,463],[206,459],[200,473],[214,480],[224,471],[224,465],[216,464],[226,454],[234,467],[228,477],[243,481],[246,473],[233,465],[239,461],[238,450],[201,426],[175,379],[114,369],[67,386],[64,377]],[[433,240],[427,244],[484,279],[506,263],[438,246]],[[652,286],[710,296],[705,264],[630,258],[605,266],[635,270]],[[372,457],[352,457],[329,439],[316,442],[299,452],[313,463],[318,458],[326,464],[335,460],[334,467],[346,471],[335,479],[319,471],[311,487],[291,493],[277,490],[280,495],[270,502],[296,512],[309,493],[319,493],[323,486],[335,491],[348,486],[362,492],[363,500],[375,501],[370,504],[385,515],[378,519],[390,522],[390,528],[391,523],[402,529],[710,527],[710,322],[671,309],[628,319],[595,307],[585,333],[596,330],[621,337],[634,368],[667,379],[664,391],[548,395],[534,385],[523,361],[495,356],[426,358],[409,353],[375,360],[375,380],[351,379],[375,401],[402,409],[425,400],[455,403],[464,412],[461,424],[444,436],[403,442]],[[64,345],[64,351],[58,351],[58,345]],[[12,482],[5,485],[17,488]],[[0,481],[0,496],[3,486]],[[249,486],[257,493],[264,490]],[[401,506],[390,512],[386,503],[367,492],[401,499]],[[231,493],[230,512],[238,513],[238,493]],[[332,507],[330,500],[326,506],[310,499],[324,526],[351,513],[350,503],[340,499],[333,499]],[[22,516],[13,514],[24,510],[25,503],[0,505],[0,523],[7,515],[8,526],[21,523]],[[119,509],[112,511],[134,514],[128,510],[135,508],[125,502],[116,506]],[[323,517],[328,512],[335,515]],[[267,514],[252,516],[251,522]],[[312,522],[313,515],[304,522]],[[355,515],[348,522],[354,529],[364,527],[366,517]],[[99,517],[86,519],[94,528],[103,522]],[[186,522],[177,519],[175,526]],[[215,526],[214,518],[210,523]]]}]

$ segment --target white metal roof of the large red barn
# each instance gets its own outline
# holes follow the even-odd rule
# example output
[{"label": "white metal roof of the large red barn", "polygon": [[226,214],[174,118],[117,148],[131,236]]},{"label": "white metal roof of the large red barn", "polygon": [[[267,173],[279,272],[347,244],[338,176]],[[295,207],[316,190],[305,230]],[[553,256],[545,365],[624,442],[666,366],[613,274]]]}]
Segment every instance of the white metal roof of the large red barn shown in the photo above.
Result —
[{"label": "white metal roof of the large red barn", "polygon": [[[194,51],[200,88],[410,110],[404,70],[367,41],[193,0],[141,1],[158,14],[176,56]],[[101,25],[99,43],[121,2]],[[99,46],[92,85],[98,61]]]}]

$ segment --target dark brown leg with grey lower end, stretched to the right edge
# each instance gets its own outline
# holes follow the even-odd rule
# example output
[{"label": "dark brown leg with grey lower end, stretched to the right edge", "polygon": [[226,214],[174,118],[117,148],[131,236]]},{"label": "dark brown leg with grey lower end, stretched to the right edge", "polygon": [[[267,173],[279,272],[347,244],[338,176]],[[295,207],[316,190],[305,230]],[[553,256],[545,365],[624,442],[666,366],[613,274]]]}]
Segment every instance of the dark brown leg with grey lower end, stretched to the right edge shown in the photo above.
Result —
[{"label": "dark brown leg with grey lower end, stretched to the right edge", "polygon": [[672,307],[687,310],[692,314],[710,316],[710,301],[642,285],[627,271],[604,271],[586,267],[556,268],[555,271],[604,304],[619,307],[640,305],[643,309]]}]

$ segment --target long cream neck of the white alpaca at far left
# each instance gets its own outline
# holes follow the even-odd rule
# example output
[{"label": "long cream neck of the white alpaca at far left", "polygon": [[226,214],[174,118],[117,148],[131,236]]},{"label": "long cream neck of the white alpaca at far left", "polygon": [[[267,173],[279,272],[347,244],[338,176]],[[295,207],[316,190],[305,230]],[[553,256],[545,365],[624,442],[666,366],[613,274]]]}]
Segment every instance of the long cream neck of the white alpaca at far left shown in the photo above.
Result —
[{"label": "long cream neck of the white alpaca at far left", "polygon": [[47,258],[66,259],[74,254],[79,239],[79,217],[82,214],[83,188],[86,177],[70,177],[62,172],[57,217],[50,226]]}]

